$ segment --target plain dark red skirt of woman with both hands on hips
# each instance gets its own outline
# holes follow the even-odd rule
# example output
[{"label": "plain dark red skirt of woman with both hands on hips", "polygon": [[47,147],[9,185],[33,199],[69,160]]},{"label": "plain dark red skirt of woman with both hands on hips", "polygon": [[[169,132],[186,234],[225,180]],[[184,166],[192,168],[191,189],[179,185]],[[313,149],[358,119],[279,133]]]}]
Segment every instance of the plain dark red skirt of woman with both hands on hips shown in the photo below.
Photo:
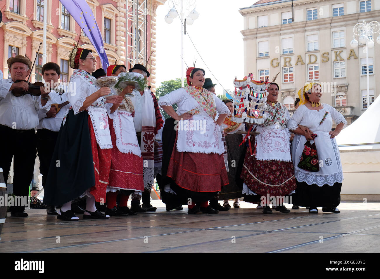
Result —
[{"label": "plain dark red skirt of woman with both hands on hips", "polygon": [[227,185],[223,154],[178,152],[174,142],[167,176],[180,187],[193,192],[218,192]]}]

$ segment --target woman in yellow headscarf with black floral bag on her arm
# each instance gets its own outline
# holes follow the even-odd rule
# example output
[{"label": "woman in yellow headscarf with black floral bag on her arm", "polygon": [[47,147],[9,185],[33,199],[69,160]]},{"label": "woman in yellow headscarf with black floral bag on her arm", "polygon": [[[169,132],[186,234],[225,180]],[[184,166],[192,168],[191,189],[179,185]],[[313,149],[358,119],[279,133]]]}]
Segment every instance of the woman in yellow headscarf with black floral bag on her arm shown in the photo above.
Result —
[{"label": "woman in yellow headscarf with black floral bag on her arm", "polygon": [[[339,213],[343,171],[335,136],[347,121],[334,107],[320,102],[319,83],[306,83],[298,96],[299,107],[288,122],[289,129],[296,134],[291,146],[297,181],[295,203],[309,207],[310,213],[318,213],[320,206],[323,212]],[[337,125],[334,131],[332,121]],[[299,128],[300,125],[306,128]],[[314,140],[315,150],[307,140]]]}]

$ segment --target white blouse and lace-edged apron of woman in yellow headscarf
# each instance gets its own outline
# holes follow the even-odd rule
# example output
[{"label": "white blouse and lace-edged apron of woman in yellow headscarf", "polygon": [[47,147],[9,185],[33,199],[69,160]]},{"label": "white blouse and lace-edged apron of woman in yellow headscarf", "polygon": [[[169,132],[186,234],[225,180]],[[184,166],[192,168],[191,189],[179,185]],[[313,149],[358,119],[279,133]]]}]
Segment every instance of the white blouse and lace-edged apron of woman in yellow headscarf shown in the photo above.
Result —
[{"label": "white blouse and lace-edged apron of woman in yellow headscarf", "polygon": [[[325,115],[325,120],[323,120]],[[322,120],[323,122],[320,124]],[[317,184],[318,186],[325,184],[332,186],[336,182],[342,183],[343,171],[338,145],[335,138],[331,139],[329,135],[332,120],[336,125],[339,123],[344,123],[344,126],[347,125],[342,113],[328,104],[323,104],[323,109],[320,110],[310,110],[305,105],[301,105],[288,121],[287,126],[290,130],[294,131],[298,128],[298,125],[302,125],[317,134],[314,141],[318,153],[319,172],[307,172],[298,167],[306,138],[298,134],[295,134],[293,138],[291,155],[294,164],[294,175],[299,182],[306,182],[309,185]]]}]

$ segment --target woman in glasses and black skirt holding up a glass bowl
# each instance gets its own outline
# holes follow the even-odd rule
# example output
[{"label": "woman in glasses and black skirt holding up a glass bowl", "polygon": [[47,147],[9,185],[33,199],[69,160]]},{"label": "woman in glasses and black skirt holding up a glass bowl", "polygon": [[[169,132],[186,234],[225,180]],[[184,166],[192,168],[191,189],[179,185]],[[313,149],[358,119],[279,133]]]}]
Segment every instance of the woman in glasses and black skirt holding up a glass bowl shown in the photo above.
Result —
[{"label": "woman in glasses and black skirt holding up a glass bowl", "polygon": [[71,108],[63,118],[46,181],[44,201],[63,204],[58,219],[76,220],[71,200],[86,196],[84,219],[106,219],[95,208],[95,201],[105,202],[111,166],[112,140],[106,103],[120,104],[121,96],[108,87],[95,86],[96,59],[89,49],[74,47],[70,54],[70,77],[67,94]]}]

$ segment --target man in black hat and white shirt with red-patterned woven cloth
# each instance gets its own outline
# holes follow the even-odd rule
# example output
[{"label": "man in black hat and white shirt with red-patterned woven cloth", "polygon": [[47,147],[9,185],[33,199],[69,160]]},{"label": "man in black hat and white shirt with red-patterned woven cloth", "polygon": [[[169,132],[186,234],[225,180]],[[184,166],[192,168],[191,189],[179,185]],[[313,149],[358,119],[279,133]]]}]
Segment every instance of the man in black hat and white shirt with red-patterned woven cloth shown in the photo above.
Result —
[{"label": "man in black hat and white shirt with red-patterned woven cloth", "polygon": [[[129,71],[142,74],[146,81],[149,77],[149,71],[141,64],[135,64]],[[136,192],[132,194],[131,210],[156,211],[157,208],[150,204],[150,192],[154,183],[155,135],[163,126],[163,120],[156,96],[148,87],[141,91],[134,90],[133,93],[135,98],[131,98],[131,101],[135,110],[132,112],[132,117],[143,161],[144,192],[142,192],[142,208],[141,195]]]}]

